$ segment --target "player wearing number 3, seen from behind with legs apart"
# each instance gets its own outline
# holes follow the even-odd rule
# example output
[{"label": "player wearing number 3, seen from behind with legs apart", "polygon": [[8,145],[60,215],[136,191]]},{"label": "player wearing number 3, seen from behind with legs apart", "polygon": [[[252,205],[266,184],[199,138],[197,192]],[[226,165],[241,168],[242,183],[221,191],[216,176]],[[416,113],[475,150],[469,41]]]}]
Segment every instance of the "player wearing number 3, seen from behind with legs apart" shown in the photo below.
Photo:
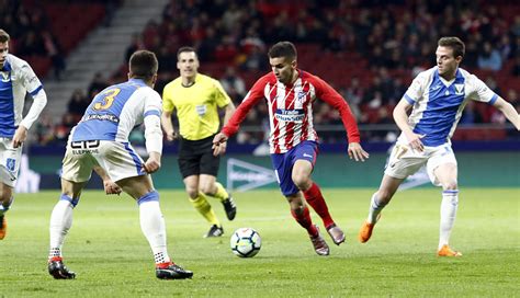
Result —
[{"label": "player wearing number 3, seen from behind with legs apart", "polygon": [[[70,131],[63,161],[61,197],[50,216],[50,249],[48,272],[58,279],[75,278],[65,267],[61,247],[72,226],[72,210],[92,170],[102,173],[116,185],[106,193],[117,193],[117,186],[132,196],[139,207],[140,228],[154,253],[156,276],[163,279],[190,278],[193,273],[176,265],[168,255],[166,227],[159,207],[159,193],[150,173],[160,168],[162,102],[152,89],[157,80],[158,61],[154,53],[138,50],[129,60],[128,81],[101,91]],[[147,161],[128,142],[132,129],[144,123]],[[98,171],[97,171],[98,172]]]}]

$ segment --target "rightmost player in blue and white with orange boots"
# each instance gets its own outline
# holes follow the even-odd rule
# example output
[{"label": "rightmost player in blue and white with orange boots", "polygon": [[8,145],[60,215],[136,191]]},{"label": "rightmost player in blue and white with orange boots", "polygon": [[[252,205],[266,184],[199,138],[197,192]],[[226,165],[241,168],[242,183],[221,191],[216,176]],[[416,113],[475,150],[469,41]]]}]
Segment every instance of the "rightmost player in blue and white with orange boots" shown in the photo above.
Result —
[{"label": "rightmost player in blue and white with orange boots", "polygon": [[442,186],[437,254],[462,255],[449,247],[459,206],[457,164],[450,138],[462,111],[470,100],[485,102],[498,108],[520,129],[515,107],[477,77],[459,68],[464,49],[464,43],[457,37],[440,38],[436,51],[437,66],[419,73],[395,107],[394,119],[403,133],[391,153],[380,188],[372,196],[369,217],[359,232],[362,243],[369,241],[381,210],[400,183],[426,164],[431,182]]}]

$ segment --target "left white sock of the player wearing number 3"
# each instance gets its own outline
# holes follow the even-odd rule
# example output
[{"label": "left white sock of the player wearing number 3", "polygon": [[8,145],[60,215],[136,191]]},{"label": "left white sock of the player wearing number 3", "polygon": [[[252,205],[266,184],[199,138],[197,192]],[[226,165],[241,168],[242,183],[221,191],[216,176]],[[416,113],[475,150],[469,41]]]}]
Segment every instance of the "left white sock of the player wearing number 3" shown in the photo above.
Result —
[{"label": "left white sock of the player wearing number 3", "polygon": [[72,204],[68,200],[60,199],[54,206],[50,215],[50,249],[48,257],[61,256],[61,247],[64,245],[65,237],[72,226]]}]

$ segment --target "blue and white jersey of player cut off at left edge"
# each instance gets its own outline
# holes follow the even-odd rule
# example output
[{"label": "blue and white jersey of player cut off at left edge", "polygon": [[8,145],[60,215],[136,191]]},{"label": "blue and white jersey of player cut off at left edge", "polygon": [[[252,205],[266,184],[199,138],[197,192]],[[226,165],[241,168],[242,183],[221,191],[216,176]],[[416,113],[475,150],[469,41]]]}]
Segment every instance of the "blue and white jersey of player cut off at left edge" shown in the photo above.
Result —
[{"label": "blue and white jersey of player cut off at left edge", "polygon": [[35,117],[32,115],[22,121],[25,94],[29,92],[34,98],[42,90],[43,85],[31,66],[16,56],[8,54],[0,69],[0,137],[12,138],[20,124],[27,129],[31,128],[41,110]]}]

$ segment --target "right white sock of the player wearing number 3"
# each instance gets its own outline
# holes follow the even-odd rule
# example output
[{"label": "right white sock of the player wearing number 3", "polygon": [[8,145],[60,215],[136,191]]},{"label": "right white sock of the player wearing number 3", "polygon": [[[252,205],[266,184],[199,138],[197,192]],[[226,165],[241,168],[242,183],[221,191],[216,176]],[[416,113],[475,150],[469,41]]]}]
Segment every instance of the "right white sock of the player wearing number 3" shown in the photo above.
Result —
[{"label": "right white sock of the player wearing number 3", "polygon": [[156,264],[170,262],[166,248],[166,227],[158,200],[139,203],[140,229],[150,244]]}]

